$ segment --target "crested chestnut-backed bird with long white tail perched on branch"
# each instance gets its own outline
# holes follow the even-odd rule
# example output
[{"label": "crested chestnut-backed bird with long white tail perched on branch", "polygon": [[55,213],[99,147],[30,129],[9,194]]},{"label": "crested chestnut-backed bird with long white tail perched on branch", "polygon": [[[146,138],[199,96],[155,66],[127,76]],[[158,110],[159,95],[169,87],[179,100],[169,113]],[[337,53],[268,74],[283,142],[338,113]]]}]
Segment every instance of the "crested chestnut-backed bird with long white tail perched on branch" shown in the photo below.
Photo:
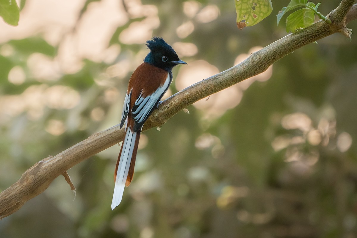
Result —
[{"label": "crested chestnut-backed bird with long white tail perched on branch", "polygon": [[130,77],[121,115],[120,128],[125,124],[125,137],[115,167],[115,186],[111,208],[117,207],[134,175],[134,166],[144,122],[158,108],[161,98],[172,82],[172,69],[186,64],[161,37],[146,41],[150,50]]}]

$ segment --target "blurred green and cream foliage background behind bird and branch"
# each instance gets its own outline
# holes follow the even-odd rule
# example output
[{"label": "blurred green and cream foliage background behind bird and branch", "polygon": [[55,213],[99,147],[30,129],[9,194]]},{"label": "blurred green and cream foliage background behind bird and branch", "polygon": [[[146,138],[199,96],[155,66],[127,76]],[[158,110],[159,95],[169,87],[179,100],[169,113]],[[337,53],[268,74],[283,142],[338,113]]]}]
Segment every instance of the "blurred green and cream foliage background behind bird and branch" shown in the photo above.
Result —
[{"label": "blurred green and cream foliage background behind bird and branch", "polygon": [[[19,2],[18,26],[0,20],[0,191],[120,122],[152,36],[188,62],[168,97],[285,36],[275,15],[286,4],[238,30],[233,1]],[[59,177],[0,221],[0,237],[357,237],[356,55],[340,34],[292,52],[144,132],[114,211],[119,146],[68,171],[76,199]]]}]

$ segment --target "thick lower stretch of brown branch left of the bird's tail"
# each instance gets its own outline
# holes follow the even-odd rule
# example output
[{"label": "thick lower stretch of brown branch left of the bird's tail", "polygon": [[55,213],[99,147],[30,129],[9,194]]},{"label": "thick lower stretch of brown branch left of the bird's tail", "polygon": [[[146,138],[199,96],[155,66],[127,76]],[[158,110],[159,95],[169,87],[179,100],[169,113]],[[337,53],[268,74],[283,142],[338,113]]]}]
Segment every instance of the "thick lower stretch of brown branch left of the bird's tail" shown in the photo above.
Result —
[{"label": "thick lower stretch of brown branch left of the bird's tail", "polygon": [[35,163],[16,183],[0,193],[0,218],[16,212],[25,202],[45,191],[56,177],[77,163],[117,144],[123,138],[124,130],[114,126],[91,135],[54,157]]}]

